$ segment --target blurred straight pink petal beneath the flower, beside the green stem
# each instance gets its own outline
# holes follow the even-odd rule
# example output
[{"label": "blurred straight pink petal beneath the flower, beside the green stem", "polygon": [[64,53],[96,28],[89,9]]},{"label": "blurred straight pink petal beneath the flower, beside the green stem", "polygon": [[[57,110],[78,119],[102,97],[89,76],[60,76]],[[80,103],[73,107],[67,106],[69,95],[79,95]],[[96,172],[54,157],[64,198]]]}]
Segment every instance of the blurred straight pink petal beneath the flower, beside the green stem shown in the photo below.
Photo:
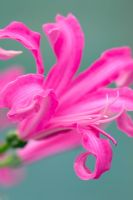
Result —
[{"label": "blurred straight pink petal beneath the flower, beside the green stem", "polygon": [[60,132],[44,140],[30,141],[24,149],[18,151],[18,155],[24,163],[29,164],[75,148],[80,145],[80,139],[80,135],[75,131]]}]

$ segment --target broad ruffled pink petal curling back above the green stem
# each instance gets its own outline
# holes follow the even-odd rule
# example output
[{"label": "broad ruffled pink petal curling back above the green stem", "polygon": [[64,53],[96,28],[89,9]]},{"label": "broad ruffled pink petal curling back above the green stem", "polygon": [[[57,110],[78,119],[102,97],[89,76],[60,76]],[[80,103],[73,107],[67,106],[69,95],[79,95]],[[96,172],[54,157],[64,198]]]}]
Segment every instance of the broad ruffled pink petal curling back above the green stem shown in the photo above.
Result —
[{"label": "broad ruffled pink petal curling back above the green stem", "polygon": [[0,107],[9,108],[8,118],[19,122],[23,139],[41,132],[55,113],[57,100],[53,90],[43,89],[44,78],[39,74],[19,76],[1,91]]}]

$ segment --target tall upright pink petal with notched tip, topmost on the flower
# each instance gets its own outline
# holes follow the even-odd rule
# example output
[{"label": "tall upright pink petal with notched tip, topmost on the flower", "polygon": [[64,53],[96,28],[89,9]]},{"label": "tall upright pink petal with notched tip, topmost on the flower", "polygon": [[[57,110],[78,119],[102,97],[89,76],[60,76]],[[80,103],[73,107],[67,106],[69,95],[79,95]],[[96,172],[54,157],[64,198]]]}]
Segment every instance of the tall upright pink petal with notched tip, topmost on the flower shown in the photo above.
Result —
[{"label": "tall upright pink petal with notched tip, topmost on the flower", "polygon": [[53,88],[59,94],[70,83],[80,65],[84,35],[72,14],[67,17],[58,15],[56,23],[45,24],[43,30],[57,57],[57,63],[46,78],[45,87]]}]

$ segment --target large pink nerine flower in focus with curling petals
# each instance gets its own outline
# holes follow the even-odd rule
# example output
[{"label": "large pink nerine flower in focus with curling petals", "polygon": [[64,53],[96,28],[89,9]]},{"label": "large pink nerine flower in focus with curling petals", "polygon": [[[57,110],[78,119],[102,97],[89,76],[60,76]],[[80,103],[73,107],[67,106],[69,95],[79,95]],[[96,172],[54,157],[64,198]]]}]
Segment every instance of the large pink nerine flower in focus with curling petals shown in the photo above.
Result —
[{"label": "large pink nerine flower in focus with curling petals", "polygon": [[[84,180],[99,178],[111,166],[109,140],[116,144],[104,130],[105,125],[117,120],[129,135],[120,120],[133,110],[133,90],[107,87],[117,82],[120,72],[133,69],[131,50],[107,50],[77,75],[84,48],[84,35],[77,19],[71,14],[58,15],[55,23],[43,25],[43,31],[56,56],[56,64],[46,77],[40,35],[21,22],[12,22],[0,30],[0,39],[21,42],[31,51],[37,65],[36,74],[19,76],[0,92],[0,107],[9,109],[8,118],[18,123],[18,137],[28,143],[17,154],[26,164],[82,145],[85,152],[75,160],[76,174]],[[86,166],[90,155],[96,158],[94,171]]]}]

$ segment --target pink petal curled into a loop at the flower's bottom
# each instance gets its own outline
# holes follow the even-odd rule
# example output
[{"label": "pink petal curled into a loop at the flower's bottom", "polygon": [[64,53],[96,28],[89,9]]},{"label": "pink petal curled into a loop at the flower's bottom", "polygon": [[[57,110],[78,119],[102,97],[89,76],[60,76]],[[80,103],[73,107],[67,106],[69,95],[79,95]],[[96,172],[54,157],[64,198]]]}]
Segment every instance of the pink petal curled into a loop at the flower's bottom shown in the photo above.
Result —
[{"label": "pink petal curled into a loop at the flower's bottom", "polygon": [[[80,154],[74,164],[77,176],[82,180],[99,178],[111,167],[112,149],[109,141],[98,138],[92,131],[83,131],[83,146],[86,153]],[[87,166],[86,161],[89,155],[96,158],[95,169],[92,172]]]}]

